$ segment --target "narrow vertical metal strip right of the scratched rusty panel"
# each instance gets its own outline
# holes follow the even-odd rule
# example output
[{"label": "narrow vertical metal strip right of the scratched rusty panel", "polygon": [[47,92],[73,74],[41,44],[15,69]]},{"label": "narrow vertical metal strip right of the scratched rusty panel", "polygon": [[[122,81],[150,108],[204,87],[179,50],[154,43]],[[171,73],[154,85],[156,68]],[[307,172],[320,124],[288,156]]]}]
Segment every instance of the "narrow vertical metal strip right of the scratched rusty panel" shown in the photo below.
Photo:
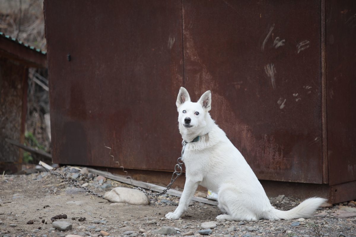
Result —
[{"label": "narrow vertical metal strip right of the scratched rusty panel", "polygon": [[323,183],[329,183],[328,171],[328,131],[327,131],[327,113],[326,113],[326,0],[321,0],[320,9],[320,29],[321,29],[321,142]]}]

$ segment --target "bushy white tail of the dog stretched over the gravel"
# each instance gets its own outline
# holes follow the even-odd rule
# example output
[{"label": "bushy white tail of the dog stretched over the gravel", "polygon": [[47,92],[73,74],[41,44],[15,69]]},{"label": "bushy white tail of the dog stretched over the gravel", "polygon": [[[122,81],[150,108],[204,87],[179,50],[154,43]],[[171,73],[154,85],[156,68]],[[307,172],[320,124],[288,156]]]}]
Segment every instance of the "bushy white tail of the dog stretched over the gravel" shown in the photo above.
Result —
[{"label": "bushy white tail of the dog stretched over the gravel", "polygon": [[272,209],[265,218],[290,220],[290,219],[296,219],[302,217],[309,217],[325,201],[327,201],[327,199],[316,198],[316,197],[308,198],[305,199],[302,203],[300,203],[295,208],[290,209],[289,211]]}]

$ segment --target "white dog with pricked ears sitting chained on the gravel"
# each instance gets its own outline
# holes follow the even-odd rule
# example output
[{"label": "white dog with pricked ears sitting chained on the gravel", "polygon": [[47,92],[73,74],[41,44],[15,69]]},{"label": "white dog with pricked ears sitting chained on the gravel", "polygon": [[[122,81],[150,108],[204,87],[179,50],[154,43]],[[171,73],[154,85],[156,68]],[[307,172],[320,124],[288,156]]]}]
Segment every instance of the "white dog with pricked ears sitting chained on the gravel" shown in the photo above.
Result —
[{"label": "white dog with pricked ears sitting chained on the gravel", "polygon": [[177,98],[179,132],[188,144],[183,161],[186,181],[179,205],[167,219],[179,219],[198,185],[218,193],[219,208],[226,212],[216,219],[256,221],[309,217],[326,199],[309,198],[289,211],[274,209],[255,173],[223,130],[211,119],[211,92],[197,103],[181,87]]}]

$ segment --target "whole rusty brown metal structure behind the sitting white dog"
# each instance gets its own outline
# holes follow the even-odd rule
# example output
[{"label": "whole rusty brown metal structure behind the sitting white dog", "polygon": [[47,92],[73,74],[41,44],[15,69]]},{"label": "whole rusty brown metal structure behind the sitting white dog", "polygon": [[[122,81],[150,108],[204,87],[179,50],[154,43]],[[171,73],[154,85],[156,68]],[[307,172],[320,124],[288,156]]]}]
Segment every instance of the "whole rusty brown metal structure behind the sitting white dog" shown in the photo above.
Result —
[{"label": "whole rusty brown metal structure behind the sitting white dog", "polygon": [[355,1],[44,6],[54,162],[167,184],[184,86],[268,195],[356,199]]}]

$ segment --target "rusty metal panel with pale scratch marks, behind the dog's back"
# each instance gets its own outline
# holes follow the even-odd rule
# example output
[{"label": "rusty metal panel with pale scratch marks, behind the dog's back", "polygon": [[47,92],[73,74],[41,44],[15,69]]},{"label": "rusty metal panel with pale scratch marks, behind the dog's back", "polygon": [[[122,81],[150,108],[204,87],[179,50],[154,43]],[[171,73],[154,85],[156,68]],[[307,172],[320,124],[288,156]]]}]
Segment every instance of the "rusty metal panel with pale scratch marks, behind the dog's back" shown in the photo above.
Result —
[{"label": "rusty metal panel with pale scratch marks, behind the dog's back", "polygon": [[184,85],[260,179],[323,182],[320,8],[183,0]]}]

